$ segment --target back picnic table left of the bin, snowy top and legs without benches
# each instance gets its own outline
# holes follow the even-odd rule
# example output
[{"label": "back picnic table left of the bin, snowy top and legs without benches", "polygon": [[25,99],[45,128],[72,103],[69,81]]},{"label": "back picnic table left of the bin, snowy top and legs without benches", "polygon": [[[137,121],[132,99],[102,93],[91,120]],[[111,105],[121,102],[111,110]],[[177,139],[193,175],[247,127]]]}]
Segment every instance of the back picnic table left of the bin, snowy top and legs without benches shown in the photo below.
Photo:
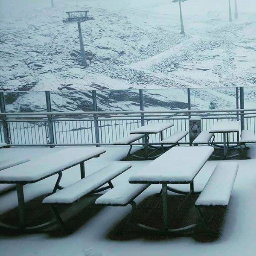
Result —
[{"label": "back picnic table left of the bin, snowy top and legs without benches", "polygon": [[137,129],[134,129],[133,131],[130,132],[130,134],[144,134],[145,135],[145,158],[150,158],[148,154],[148,147],[151,148],[157,148],[154,147],[153,145],[149,145],[149,134],[158,134],[160,133],[160,140],[163,140],[163,131],[172,127],[174,125],[174,122],[155,122],[155,123],[150,123],[148,125],[141,126]]}]

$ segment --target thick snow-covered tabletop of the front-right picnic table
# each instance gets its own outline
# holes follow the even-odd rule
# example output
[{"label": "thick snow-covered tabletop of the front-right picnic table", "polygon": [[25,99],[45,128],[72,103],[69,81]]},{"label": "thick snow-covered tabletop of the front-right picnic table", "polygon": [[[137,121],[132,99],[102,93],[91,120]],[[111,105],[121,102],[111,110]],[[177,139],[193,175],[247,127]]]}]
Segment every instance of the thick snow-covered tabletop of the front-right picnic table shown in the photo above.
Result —
[{"label": "thick snow-covered tabletop of the front-right picnic table", "polygon": [[174,147],[130,177],[130,183],[190,182],[204,166],[213,147]]}]

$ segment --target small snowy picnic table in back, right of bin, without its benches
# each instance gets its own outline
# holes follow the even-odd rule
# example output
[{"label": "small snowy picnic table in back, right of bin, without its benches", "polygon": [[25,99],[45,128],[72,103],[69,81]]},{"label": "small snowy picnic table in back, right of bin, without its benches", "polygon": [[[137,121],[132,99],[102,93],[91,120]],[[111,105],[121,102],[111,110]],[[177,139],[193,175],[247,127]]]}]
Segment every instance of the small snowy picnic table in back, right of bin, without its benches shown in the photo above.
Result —
[{"label": "small snowy picnic table in back, right of bin, without its benches", "polygon": [[224,156],[221,157],[221,156],[213,155],[214,157],[218,157],[218,158],[231,158],[231,157],[236,157],[237,155],[239,155],[239,154],[233,154],[231,156],[227,156],[228,150],[230,148],[235,148],[235,147],[239,146],[239,145],[233,145],[233,146],[229,145],[229,134],[230,133],[234,133],[234,132],[239,133],[239,127],[240,127],[239,121],[216,122],[212,126],[212,128],[209,130],[209,133],[212,133],[212,134],[214,134],[214,133],[223,134],[223,146],[215,144],[215,143],[213,143],[213,145],[215,145],[218,148],[223,148]]}]

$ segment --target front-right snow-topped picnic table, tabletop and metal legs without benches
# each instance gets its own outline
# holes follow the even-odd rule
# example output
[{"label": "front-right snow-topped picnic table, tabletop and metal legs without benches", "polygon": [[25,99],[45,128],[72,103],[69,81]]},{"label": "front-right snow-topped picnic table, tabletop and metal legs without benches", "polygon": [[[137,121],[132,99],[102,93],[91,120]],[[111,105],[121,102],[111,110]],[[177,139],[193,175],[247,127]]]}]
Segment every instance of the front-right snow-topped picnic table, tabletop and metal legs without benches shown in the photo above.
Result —
[{"label": "front-right snow-topped picnic table, tabletop and metal legs without benches", "polygon": [[[169,214],[167,191],[172,191],[181,195],[186,195],[183,204],[190,195],[198,194],[194,191],[194,179],[203,168],[212,152],[213,147],[175,147],[162,154],[156,160],[149,163],[145,168],[129,178],[129,183],[161,184],[161,194],[163,200],[163,230],[171,233],[180,230],[190,229],[192,226],[180,229],[169,229]],[[184,192],[167,184],[190,184],[190,191]],[[183,204],[179,209],[182,208]],[[177,211],[178,213],[178,211]],[[195,225],[194,225],[195,226]],[[194,227],[193,226],[193,227]],[[152,227],[144,226],[148,230]],[[156,230],[156,231],[163,231]]]}]

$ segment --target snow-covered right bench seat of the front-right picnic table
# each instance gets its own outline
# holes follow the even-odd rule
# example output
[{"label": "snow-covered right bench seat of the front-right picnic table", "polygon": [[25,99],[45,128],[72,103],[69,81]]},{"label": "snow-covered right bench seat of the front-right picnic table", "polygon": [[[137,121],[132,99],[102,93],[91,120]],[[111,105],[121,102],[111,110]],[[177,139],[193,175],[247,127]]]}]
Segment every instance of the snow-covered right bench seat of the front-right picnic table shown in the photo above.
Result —
[{"label": "snow-covered right bench seat of the front-right picnic table", "polygon": [[219,163],[214,169],[195,205],[228,205],[238,171],[238,163]]}]

